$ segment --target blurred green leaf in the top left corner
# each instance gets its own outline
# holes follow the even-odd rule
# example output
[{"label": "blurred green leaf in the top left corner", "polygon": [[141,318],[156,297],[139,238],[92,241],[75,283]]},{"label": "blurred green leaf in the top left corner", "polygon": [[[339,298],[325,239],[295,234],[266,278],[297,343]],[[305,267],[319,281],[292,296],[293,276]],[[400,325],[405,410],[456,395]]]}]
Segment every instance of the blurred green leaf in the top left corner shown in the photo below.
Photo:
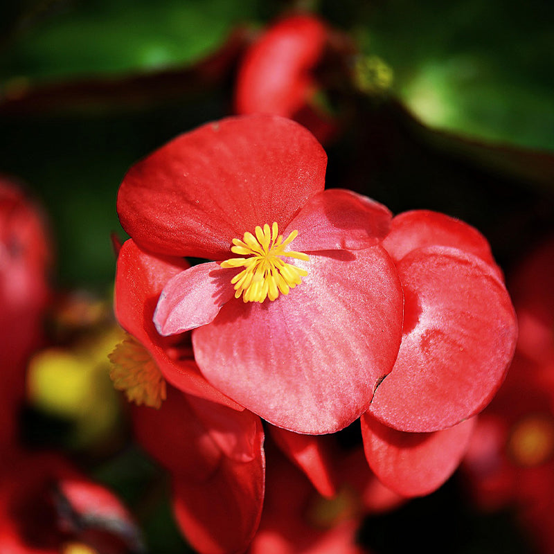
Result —
[{"label": "blurred green leaf in the top left corner", "polygon": [[255,0],[76,1],[23,26],[0,61],[0,80],[129,73],[186,64],[253,17]]}]

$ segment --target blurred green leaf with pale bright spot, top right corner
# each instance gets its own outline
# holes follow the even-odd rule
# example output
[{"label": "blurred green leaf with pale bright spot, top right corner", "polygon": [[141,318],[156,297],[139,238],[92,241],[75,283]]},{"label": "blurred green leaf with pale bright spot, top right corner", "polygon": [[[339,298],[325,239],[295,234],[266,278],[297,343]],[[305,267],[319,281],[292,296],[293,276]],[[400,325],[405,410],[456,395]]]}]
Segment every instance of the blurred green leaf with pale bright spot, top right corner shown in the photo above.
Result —
[{"label": "blurred green leaf with pale bright spot, top right corner", "polygon": [[553,17],[537,0],[392,0],[366,6],[352,26],[423,123],[554,149]]}]

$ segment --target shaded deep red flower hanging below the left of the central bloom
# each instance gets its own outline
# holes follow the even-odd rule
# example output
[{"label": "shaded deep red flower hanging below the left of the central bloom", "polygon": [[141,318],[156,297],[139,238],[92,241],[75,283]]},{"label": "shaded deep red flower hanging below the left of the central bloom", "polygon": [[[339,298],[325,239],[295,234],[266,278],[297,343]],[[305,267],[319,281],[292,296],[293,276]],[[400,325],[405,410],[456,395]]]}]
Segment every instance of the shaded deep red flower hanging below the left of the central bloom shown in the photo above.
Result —
[{"label": "shaded deep red flower hanging below the left of the central bloom", "polygon": [[242,552],[258,528],[265,458],[260,418],[169,388],[134,409],[139,443],[172,476],[177,524],[202,554]]}]

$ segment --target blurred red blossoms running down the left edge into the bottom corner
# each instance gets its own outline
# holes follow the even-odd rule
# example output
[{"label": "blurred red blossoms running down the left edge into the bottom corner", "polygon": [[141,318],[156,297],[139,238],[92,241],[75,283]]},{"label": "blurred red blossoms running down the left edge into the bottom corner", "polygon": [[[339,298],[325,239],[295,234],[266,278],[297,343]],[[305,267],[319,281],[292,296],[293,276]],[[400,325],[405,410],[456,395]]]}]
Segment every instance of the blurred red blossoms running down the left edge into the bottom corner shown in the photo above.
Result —
[{"label": "blurred red blossoms running down the left edge into the bottom corner", "polygon": [[19,438],[26,366],[44,346],[51,242],[36,206],[0,179],[0,552],[139,553],[131,515],[57,452]]}]

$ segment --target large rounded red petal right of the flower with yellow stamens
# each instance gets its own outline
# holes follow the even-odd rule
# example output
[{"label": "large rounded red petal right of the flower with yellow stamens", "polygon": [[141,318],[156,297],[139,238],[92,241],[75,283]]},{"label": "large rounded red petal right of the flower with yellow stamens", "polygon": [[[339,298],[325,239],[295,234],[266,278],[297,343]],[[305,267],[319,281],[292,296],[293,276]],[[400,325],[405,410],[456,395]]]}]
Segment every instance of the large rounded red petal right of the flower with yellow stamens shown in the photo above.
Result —
[{"label": "large rounded red petal right of the flower with yellow stamens", "polygon": [[515,313],[494,270],[457,249],[417,249],[397,269],[402,345],[370,413],[400,431],[438,431],[481,411],[502,384]]}]

